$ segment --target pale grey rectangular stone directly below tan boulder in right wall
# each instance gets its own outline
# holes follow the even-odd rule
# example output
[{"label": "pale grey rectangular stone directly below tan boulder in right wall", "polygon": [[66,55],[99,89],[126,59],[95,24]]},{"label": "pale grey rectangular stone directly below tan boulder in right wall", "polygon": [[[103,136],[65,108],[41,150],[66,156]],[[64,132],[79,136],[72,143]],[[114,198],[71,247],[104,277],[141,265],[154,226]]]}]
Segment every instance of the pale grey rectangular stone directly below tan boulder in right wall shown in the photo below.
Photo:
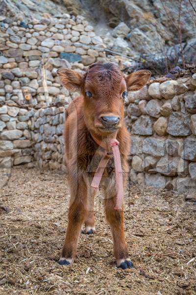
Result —
[{"label": "pale grey rectangular stone directly below tan boulder in right wall", "polygon": [[152,156],[165,155],[165,140],[149,137],[144,140],[143,152]]}]

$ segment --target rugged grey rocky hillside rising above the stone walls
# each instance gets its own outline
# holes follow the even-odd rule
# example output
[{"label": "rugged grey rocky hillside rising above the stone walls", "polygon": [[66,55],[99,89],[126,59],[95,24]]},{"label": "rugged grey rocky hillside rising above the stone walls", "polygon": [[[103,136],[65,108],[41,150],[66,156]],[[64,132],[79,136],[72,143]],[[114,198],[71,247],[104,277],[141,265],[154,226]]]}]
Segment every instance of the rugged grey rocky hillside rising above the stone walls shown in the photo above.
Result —
[{"label": "rugged grey rocky hillside rising above the stone walls", "polygon": [[[192,3],[193,2],[193,3]],[[194,6],[195,5],[195,6]],[[165,74],[196,63],[196,3],[189,0],[2,0],[4,23],[14,19],[82,15],[111,54],[123,55],[129,71],[148,67]],[[1,19],[2,20],[2,19]],[[4,24],[1,23],[1,27]]]}]

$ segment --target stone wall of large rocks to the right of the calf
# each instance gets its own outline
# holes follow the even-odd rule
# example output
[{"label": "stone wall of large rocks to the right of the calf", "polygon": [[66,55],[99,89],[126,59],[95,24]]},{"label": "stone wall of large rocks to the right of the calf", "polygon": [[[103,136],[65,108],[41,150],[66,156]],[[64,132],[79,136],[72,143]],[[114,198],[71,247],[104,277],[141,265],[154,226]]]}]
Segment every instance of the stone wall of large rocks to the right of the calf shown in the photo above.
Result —
[{"label": "stone wall of large rocks to the right of the calf", "polygon": [[196,190],[196,74],[131,92],[126,113],[132,182]]}]

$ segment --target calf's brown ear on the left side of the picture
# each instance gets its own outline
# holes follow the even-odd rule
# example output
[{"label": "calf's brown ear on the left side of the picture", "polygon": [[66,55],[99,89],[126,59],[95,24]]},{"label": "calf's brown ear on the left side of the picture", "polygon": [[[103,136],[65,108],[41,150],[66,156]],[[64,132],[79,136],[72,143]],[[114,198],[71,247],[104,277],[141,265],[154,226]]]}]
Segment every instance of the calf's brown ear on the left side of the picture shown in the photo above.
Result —
[{"label": "calf's brown ear on the left side of the picture", "polygon": [[82,76],[78,72],[66,68],[59,68],[56,72],[65,88],[72,91],[81,89]]}]

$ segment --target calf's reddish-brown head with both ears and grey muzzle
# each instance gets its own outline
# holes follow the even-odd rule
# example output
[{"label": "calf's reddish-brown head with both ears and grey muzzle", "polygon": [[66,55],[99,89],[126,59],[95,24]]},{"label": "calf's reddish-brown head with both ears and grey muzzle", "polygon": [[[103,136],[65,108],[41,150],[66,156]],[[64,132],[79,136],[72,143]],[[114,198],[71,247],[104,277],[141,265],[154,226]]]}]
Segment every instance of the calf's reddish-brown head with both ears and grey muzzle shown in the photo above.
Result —
[{"label": "calf's reddish-brown head with both ears and grey muzzle", "polygon": [[127,91],[141,89],[151,75],[140,70],[124,78],[115,64],[99,62],[92,64],[83,76],[66,68],[58,69],[57,74],[65,88],[81,92],[87,128],[101,137],[122,127]]}]

